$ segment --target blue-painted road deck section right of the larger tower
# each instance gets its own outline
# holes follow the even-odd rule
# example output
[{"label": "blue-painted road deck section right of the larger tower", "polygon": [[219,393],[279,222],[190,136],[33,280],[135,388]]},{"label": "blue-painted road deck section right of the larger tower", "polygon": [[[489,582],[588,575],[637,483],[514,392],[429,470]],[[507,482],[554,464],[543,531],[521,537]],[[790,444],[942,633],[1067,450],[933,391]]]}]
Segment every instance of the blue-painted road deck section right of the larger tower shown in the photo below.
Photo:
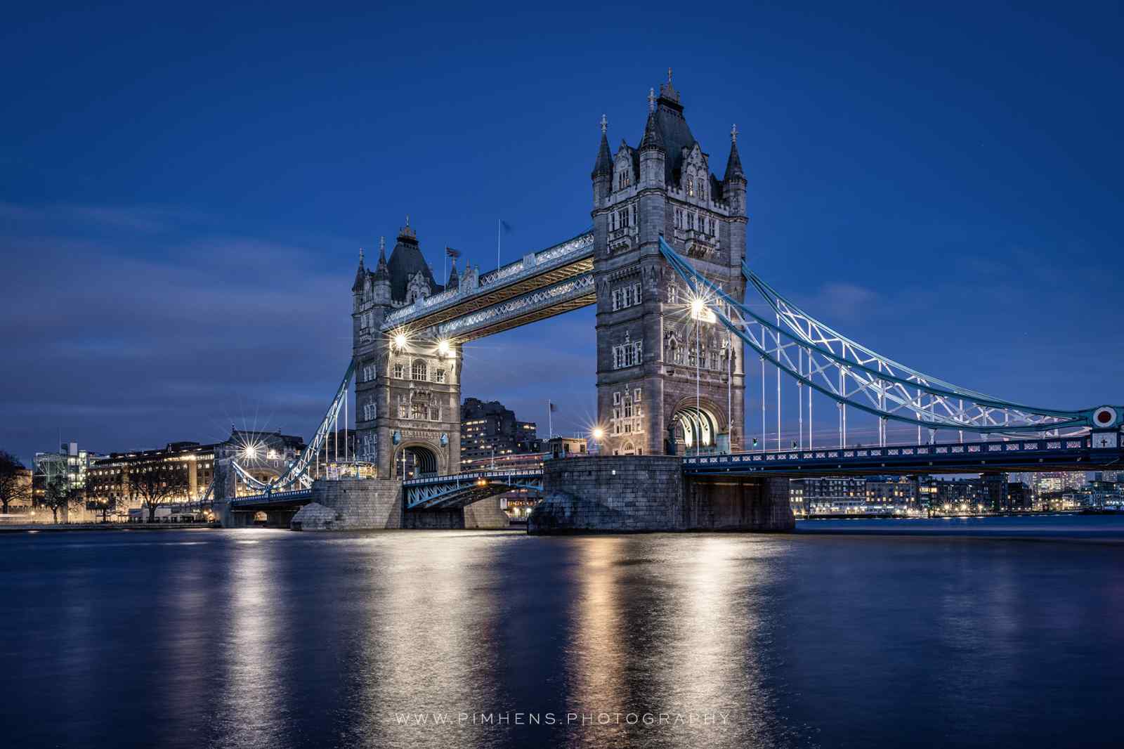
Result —
[{"label": "blue-painted road deck section right of the larger tower", "polygon": [[1094,449],[1088,436],[964,444],[890,445],[736,452],[683,459],[687,475],[847,476],[1094,470],[1124,461],[1118,448]]}]

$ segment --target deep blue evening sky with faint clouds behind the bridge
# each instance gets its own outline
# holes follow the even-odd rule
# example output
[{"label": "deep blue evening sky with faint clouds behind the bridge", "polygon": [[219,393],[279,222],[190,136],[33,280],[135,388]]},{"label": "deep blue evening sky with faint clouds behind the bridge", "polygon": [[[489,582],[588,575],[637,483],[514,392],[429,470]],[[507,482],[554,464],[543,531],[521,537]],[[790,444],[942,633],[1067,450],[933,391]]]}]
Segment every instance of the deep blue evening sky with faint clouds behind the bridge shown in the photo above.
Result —
[{"label": "deep blue evening sky with faint clouds behind the bridge", "polygon": [[[500,217],[508,260],[581,231],[601,114],[635,144],[669,66],[719,168],[737,124],[776,287],[967,387],[1124,403],[1122,30],[1118,3],[25,3],[0,27],[0,448],[307,436],[359,247],[409,214],[439,273],[445,245],[490,268]],[[540,422],[553,398],[570,431],[593,381],[586,309],[470,346],[463,395]]]}]

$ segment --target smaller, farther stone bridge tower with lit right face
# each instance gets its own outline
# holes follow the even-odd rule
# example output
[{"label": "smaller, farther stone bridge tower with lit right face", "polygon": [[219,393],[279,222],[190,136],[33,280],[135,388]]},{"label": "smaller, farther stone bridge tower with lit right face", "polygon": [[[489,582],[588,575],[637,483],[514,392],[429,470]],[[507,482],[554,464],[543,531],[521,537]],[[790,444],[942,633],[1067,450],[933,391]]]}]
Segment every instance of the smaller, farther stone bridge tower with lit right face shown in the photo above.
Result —
[{"label": "smaller, farther stone bridge tower with lit right face", "polygon": [[395,309],[444,288],[425,262],[409,218],[389,261],[381,240],[373,271],[360,255],[352,287],[355,436],[359,460],[375,463],[380,478],[460,468],[460,346],[443,345],[424,331],[381,331]]}]

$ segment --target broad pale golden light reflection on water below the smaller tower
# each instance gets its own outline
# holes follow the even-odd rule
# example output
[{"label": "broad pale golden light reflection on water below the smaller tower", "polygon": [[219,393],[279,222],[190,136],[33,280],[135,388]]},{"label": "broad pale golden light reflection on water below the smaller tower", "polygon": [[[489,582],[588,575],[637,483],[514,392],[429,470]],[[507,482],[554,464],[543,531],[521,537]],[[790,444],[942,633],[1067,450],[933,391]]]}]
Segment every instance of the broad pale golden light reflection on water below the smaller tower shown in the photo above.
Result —
[{"label": "broad pale golden light reflection on water below the smaller tower", "polygon": [[[462,714],[497,709],[498,544],[471,532],[379,534],[368,540],[374,597],[361,623],[359,658],[366,746],[402,746],[436,736],[451,747],[482,734]],[[401,565],[402,559],[410,560]],[[388,568],[386,560],[393,560]],[[441,729],[402,715],[447,715]],[[415,720],[415,719],[411,719]]]}]

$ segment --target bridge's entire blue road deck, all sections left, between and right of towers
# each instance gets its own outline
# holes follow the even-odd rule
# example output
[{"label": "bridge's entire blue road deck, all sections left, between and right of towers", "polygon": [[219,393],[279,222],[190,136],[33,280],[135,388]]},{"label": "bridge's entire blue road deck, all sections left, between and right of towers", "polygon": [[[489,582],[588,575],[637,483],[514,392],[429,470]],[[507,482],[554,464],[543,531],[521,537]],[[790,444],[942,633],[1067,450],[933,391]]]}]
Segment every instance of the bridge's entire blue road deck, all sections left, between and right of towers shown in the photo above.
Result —
[{"label": "bridge's entire blue road deck, all sections left, between and right of towers", "polygon": [[[962,444],[887,445],[773,450],[728,454],[687,455],[685,476],[877,476],[918,473],[981,473],[991,471],[1084,471],[1124,469],[1124,449],[1097,449],[1093,437],[1041,437],[966,442]],[[561,458],[559,460],[581,460]],[[407,511],[464,507],[513,489],[543,490],[542,467],[422,476],[402,481]],[[299,507],[311,500],[311,489],[275,491],[232,500],[237,511]]]}]

